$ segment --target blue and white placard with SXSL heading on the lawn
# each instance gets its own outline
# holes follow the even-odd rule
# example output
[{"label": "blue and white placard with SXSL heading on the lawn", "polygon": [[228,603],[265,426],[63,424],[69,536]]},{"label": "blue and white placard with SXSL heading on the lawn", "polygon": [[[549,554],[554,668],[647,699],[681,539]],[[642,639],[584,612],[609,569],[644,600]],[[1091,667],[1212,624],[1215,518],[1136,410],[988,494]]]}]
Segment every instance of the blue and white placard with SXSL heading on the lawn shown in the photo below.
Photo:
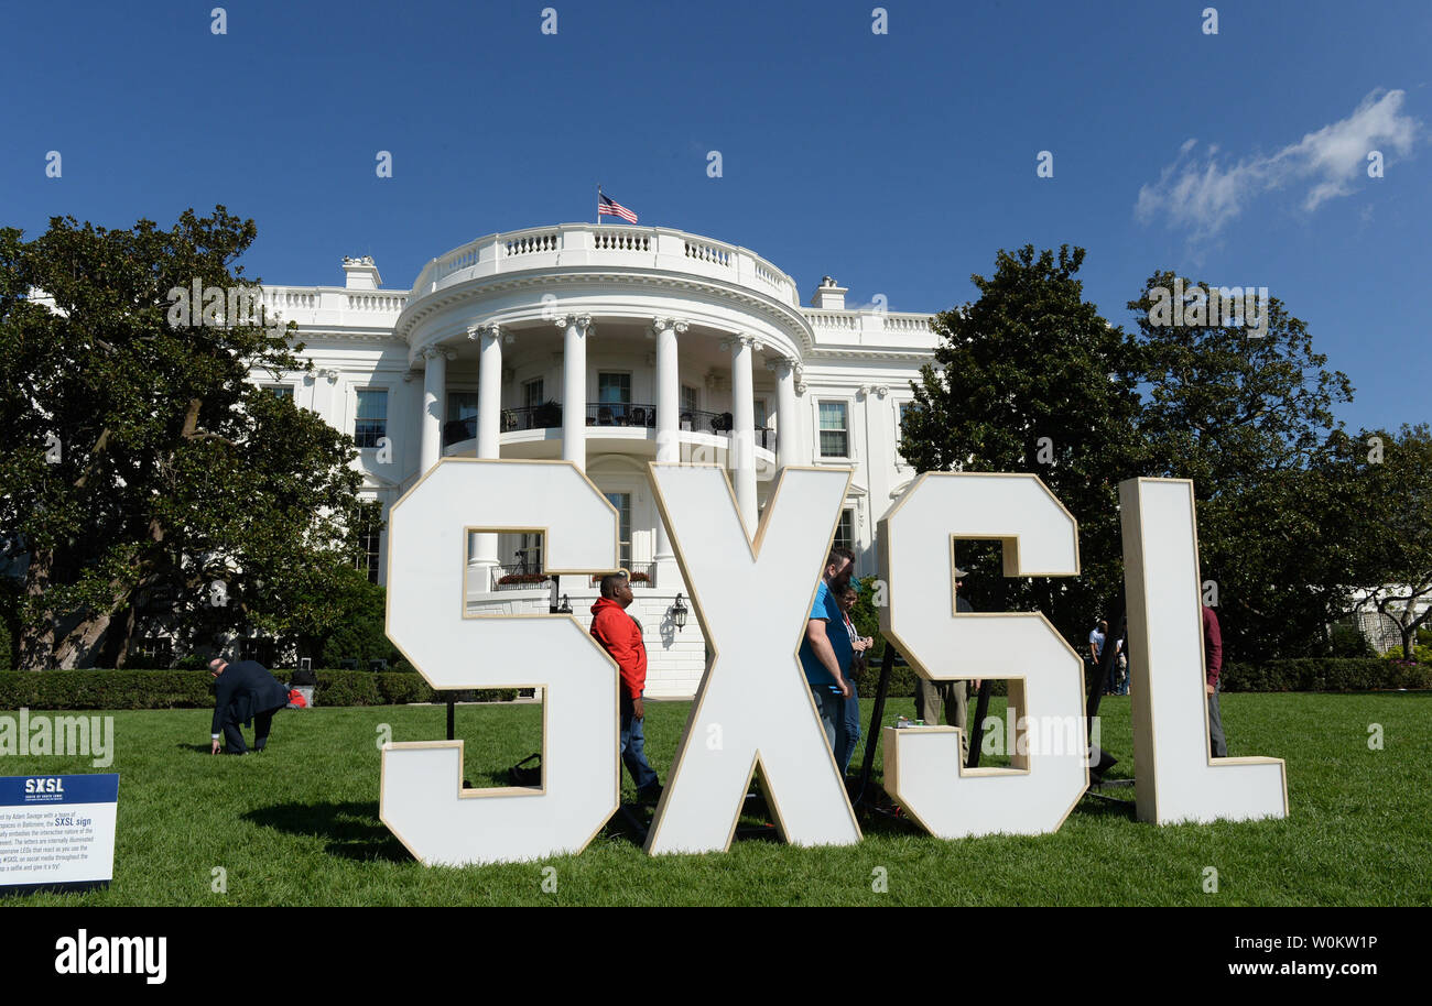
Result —
[{"label": "blue and white placard with SXSL heading on the lawn", "polygon": [[119,774],[0,777],[0,894],[115,877]]}]

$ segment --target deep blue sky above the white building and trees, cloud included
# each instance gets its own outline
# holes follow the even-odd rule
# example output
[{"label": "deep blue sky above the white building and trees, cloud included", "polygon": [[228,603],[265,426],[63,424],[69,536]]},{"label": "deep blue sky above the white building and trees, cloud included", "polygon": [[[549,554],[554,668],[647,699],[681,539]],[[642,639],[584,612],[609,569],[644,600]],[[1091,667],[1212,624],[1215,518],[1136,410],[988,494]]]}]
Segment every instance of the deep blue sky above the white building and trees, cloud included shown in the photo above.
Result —
[{"label": "deep blue sky above the white building and trees, cloud included", "polygon": [[894,311],[971,299],[1000,248],[1083,245],[1116,323],[1156,269],[1267,286],[1352,378],[1349,425],[1432,418],[1425,0],[889,0],[888,34],[869,0],[229,3],[222,36],[213,6],[6,4],[0,223],[223,203],[258,223],[249,275],[337,285],[372,255],[405,288],[473,238],[594,219],[601,182]]}]

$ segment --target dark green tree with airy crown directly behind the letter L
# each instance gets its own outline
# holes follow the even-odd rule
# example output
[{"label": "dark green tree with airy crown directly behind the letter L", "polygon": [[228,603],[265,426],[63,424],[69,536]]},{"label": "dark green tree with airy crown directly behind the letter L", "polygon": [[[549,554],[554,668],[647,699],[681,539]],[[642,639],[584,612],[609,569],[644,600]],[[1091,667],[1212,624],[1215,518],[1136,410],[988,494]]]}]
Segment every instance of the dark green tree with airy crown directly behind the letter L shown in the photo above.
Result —
[{"label": "dark green tree with airy crown directly behind the letter L", "polygon": [[1332,465],[1333,406],[1352,385],[1313,351],[1277,298],[1262,335],[1209,305],[1206,323],[1157,323],[1164,292],[1210,288],[1157,272],[1128,303],[1140,331],[1144,475],[1190,478],[1206,594],[1216,594],[1226,660],[1319,655],[1349,607],[1355,498]]}]

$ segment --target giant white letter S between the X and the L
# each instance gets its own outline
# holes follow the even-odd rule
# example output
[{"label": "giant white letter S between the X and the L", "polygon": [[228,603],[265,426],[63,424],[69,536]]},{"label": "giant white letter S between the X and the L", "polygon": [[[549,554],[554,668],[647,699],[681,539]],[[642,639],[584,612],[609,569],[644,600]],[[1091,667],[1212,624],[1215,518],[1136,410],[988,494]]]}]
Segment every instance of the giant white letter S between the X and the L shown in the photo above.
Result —
[{"label": "giant white letter S between the X and the L", "polygon": [[886,727],[885,788],[942,839],[1057,831],[1088,786],[1083,664],[1040,612],[957,615],[954,538],[1004,541],[1007,577],[1078,575],[1074,518],[1034,475],[925,474],[881,518],[881,631],[925,678],[1008,678],[1028,746],[965,770],[952,727]]}]

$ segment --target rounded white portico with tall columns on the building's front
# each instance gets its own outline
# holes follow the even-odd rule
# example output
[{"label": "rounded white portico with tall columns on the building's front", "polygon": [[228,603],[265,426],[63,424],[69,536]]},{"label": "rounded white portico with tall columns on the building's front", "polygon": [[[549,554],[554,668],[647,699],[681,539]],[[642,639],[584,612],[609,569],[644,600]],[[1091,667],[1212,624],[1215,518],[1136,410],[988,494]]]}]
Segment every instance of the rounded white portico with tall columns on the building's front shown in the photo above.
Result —
[{"label": "rounded white portico with tall columns on the building's front", "polygon": [[[584,472],[603,459],[591,468],[599,485],[620,459],[643,472],[647,461],[715,462],[753,531],[759,485],[793,459],[780,444],[799,441],[796,379],[812,332],[795,282],[745,249],[616,230],[494,236],[430,263],[395,332],[422,372],[417,475],[444,455],[561,458]],[[613,495],[636,507],[621,560],[649,588],[680,590],[652,501]],[[471,594],[530,575],[537,550],[474,535]]]}]

